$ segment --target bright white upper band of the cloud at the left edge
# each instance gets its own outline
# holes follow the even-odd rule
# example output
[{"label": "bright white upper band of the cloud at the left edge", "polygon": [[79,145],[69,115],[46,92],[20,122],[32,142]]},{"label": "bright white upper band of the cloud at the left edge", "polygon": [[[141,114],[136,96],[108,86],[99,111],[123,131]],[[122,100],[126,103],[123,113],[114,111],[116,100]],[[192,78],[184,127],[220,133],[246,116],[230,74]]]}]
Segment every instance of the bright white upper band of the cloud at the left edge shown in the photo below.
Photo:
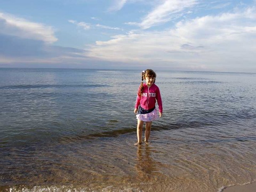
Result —
[{"label": "bright white upper band of the cloud at the left edge", "polygon": [[20,38],[34,39],[46,43],[56,42],[54,30],[42,23],[31,22],[0,12],[0,34],[12,35]]}]

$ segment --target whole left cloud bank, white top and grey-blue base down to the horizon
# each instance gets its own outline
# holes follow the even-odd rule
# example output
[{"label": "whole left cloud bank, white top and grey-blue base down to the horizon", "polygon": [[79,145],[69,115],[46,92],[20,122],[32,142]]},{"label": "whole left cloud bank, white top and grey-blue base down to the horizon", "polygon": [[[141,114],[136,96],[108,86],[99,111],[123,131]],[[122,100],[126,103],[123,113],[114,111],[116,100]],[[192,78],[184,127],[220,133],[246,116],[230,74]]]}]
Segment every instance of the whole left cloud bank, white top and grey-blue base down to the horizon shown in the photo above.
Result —
[{"label": "whole left cloud bank, white top and grey-blue base down to the horizon", "polygon": [[0,13],[0,64],[85,58],[83,50],[54,46],[55,41],[52,27]]}]

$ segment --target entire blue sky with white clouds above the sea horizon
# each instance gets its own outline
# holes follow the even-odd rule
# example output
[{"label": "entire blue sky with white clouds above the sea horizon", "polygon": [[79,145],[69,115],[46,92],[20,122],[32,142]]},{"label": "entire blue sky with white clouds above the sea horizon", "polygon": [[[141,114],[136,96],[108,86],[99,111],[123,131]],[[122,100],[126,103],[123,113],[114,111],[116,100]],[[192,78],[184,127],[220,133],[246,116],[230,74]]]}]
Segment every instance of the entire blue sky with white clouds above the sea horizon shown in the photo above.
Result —
[{"label": "entire blue sky with white clouds above the sea horizon", "polygon": [[0,67],[256,73],[256,0],[0,0]]}]

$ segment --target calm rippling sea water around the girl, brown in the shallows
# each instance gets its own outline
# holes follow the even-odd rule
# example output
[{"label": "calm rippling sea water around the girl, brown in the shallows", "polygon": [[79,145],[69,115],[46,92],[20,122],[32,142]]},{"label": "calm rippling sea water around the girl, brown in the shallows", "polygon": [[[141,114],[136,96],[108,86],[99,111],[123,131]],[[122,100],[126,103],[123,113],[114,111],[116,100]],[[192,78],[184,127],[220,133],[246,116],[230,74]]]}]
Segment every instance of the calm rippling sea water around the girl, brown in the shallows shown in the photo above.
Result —
[{"label": "calm rippling sea water around the girl, brown in the shallows", "polygon": [[137,141],[138,70],[0,68],[0,191],[221,191],[256,181],[256,74],[156,71],[163,117]]}]

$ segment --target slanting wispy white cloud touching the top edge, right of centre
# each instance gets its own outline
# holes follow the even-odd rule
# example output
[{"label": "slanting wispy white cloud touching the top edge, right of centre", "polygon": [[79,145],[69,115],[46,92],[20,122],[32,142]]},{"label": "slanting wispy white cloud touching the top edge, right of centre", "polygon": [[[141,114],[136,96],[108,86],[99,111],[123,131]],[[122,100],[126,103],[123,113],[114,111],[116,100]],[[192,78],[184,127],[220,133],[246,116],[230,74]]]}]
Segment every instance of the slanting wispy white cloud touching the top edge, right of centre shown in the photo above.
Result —
[{"label": "slanting wispy white cloud touching the top edge, right of centre", "polygon": [[177,17],[176,14],[197,4],[197,0],[165,0],[151,11],[140,23],[141,28],[147,29],[160,25]]}]

